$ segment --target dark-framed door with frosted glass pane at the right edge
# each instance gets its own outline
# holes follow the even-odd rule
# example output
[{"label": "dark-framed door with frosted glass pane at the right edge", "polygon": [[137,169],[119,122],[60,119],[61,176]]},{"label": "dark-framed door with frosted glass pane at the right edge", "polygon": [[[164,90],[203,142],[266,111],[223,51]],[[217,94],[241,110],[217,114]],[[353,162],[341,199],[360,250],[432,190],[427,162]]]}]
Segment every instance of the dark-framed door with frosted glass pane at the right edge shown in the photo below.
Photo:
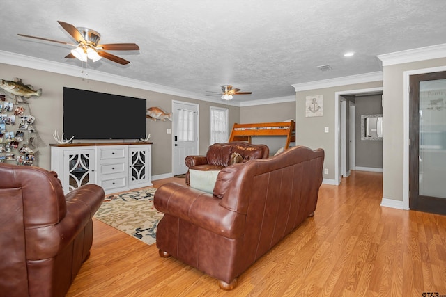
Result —
[{"label": "dark-framed door with frosted glass pane at the right edge", "polygon": [[410,76],[409,207],[446,214],[446,72]]}]

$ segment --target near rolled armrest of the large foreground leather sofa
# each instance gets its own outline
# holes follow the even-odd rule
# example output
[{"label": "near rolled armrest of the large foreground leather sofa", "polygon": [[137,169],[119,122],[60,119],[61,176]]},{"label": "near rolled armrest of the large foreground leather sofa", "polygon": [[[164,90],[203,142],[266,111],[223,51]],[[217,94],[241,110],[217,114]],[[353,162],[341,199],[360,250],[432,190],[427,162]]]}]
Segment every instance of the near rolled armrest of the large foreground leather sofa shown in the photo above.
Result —
[{"label": "near rolled armrest of the large foreground leather sofa", "polygon": [[153,204],[158,211],[186,220],[215,234],[235,239],[243,234],[245,216],[222,207],[210,193],[176,183],[160,186]]}]

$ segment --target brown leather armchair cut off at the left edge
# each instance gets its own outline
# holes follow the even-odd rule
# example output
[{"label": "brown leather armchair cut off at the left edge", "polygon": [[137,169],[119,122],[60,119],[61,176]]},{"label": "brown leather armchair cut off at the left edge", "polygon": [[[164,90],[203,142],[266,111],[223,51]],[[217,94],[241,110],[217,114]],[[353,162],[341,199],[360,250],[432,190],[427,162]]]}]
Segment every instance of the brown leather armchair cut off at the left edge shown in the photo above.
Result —
[{"label": "brown leather armchair cut off at the left edge", "polygon": [[65,296],[104,200],[89,184],[65,196],[55,172],[0,164],[0,296]]}]

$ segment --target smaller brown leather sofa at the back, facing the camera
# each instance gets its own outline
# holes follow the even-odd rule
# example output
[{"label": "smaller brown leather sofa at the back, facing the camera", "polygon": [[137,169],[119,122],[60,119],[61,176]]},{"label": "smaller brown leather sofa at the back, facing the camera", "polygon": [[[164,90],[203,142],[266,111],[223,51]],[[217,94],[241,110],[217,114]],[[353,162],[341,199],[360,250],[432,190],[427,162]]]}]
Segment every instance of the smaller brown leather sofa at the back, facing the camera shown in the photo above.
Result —
[{"label": "smaller brown leather sofa at the back, facing the camera", "polygon": [[[186,156],[185,164],[194,170],[222,170],[230,165],[231,155],[238,153],[243,160],[266,159],[270,154],[267,145],[253,145],[244,141],[214,143],[208,148],[206,156]],[[186,172],[186,184],[190,186],[189,170]]]}]

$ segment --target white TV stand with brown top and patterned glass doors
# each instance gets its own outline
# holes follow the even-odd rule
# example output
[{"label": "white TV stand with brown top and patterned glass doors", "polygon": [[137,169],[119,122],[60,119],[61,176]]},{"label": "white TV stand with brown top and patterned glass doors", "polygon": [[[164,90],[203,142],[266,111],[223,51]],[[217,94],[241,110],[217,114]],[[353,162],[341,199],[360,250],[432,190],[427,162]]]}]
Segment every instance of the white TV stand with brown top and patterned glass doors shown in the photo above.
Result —
[{"label": "white TV stand with brown top and patterned glass doors", "polygon": [[152,186],[152,143],[52,144],[51,170],[63,192],[98,184],[106,194]]}]

